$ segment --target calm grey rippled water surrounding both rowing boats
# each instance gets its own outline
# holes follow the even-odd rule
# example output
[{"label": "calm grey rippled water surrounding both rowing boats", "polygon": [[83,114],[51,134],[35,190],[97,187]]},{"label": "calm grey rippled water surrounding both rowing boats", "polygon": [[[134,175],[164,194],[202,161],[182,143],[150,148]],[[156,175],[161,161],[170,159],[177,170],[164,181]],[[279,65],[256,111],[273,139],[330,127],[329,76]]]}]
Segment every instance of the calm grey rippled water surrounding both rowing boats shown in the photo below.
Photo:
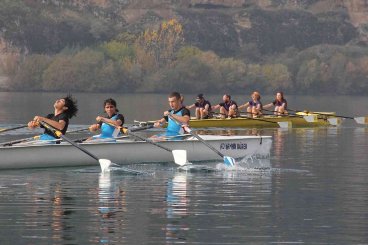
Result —
[{"label": "calm grey rippled water surrounding both rowing boats", "polygon": [[[0,127],[52,113],[63,95],[0,93]],[[161,118],[169,108],[166,94],[75,95],[80,112],[72,129],[102,116],[108,97],[127,124]],[[205,94],[212,104],[221,97]],[[194,99],[186,95],[184,102]],[[243,104],[250,96],[233,99]],[[367,97],[286,99],[293,109],[368,116]],[[262,95],[263,103],[273,100]],[[97,165],[0,170],[0,244],[368,244],[368,127],[346,119],[340,127],[198,132],[271,135],[273,147],[269,157],[246,158],[234,168],[193,163],[214,171],[175,163],[127,166],[148,175],[100,173]],[[71,138],[84,135],[90,134]],[[29,136],[27,129],[5,132],[0,142]]]}]

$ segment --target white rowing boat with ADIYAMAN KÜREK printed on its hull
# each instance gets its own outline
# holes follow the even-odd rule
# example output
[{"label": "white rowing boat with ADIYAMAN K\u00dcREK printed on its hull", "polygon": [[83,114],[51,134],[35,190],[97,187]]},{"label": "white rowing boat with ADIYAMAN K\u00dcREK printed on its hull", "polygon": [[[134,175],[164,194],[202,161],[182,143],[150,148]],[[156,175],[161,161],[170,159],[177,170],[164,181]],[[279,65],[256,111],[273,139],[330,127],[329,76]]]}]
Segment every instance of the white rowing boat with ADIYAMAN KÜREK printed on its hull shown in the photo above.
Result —
[{"label": "white rowing boat with ADIYAMAN K\u00dcREK printed on its hull", "polygon": [[[202,135],[203,140],[226,156],[239,159],[248,155],[268,156],[271,136],[213,136]],[[261,144],[262,142],[262,144]],[[170,149],[185,150],[187,160],[222,160],[215,152],[197,139],[160,141]],[[143,141],[118,140],[115,143],[79,144],[87,151],[112,163],[173,162],[173,155]],[[11,146],[0,148],[0,168],[28,168],[99,164],[69,143],[59,145]]]}]

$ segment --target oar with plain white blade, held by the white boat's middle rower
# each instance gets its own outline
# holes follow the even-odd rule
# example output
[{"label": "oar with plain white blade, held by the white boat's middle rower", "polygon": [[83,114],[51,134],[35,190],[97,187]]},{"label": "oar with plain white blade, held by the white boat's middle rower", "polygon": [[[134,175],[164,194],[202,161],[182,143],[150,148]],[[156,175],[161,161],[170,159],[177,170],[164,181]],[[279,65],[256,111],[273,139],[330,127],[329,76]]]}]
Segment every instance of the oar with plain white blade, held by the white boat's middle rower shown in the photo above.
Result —
[{"label": "oar with plain white blade, held by the white boat's middle rower", "polygon": [[168,152],[171,152],[173,154],[173,156],[174,156],[174,162],[177,163],[177,164],[179,164],[179,165],[181,165],[181,166],[183,166],[187,162],[186,161],[186,151],[184,151],[184,150],[171,150],[171,149],[166,148],[166,147],[164,147],[164,146],[162,146],[160,144],[157,144],[156,142],[154,142],[152,140],[149,140],[149,139],[147,139],[147,138],[145,138],[145,137],[143,137],[143,136],[141,136],[139,134],[133,133],[133,130],[134,131],[139,131],[139,130],[142,130],[142,129],[150,129],[150,128],[153,128],[153,125],[147,125],[147,126],[144,126],[142,128],[128,130],[127,128],[124,128],[124,127],[121,127],[121,126],[116,126],[115,124],[109,123],[109,122],[107,122],[107,121],[105,121],[103,119],[101,119],[100,121],[103,122],[104,124],[107,124],[107,125],[109,125],[111,127],[114,127],[116,129],[120,130],[120,132],[122,132],[122,133],[133,135],[134,137],[139,138],[141,140],[144,140],[147,143],[150,143],[150,144],[152,144],[154,146],[160,147],[161,149],[164,149],[164,150],[166,150]]}]

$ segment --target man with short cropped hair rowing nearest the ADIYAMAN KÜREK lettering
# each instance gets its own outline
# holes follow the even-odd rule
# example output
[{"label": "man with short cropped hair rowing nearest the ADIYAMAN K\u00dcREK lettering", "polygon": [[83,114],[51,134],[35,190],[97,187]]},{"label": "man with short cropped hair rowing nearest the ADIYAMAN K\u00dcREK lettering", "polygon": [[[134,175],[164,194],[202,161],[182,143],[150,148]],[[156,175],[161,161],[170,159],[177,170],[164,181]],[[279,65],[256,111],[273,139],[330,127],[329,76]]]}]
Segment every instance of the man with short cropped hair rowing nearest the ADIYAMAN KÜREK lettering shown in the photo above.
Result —
[{"label": "man with short cropped hair rowing nearest the ADIYAMAN K\u00dcREK lettering", "polygon": [[[168,115],[172,115],[178,121],[188,124],[190,120],[190,111],[185,107],[182,107],[182,99],[178,92],[172,92],[169,94],[169,104],[171,109],[164,111],[164,117],[155,123],[155,128],[159,128],[161,125],[169,122],[166,132],[163,134],[153,135],[151,138],[163,138],[184,134],[184,129],[172,121]],[[176,137],[171,140],[181,140],[182,138],[183,137]]]}]

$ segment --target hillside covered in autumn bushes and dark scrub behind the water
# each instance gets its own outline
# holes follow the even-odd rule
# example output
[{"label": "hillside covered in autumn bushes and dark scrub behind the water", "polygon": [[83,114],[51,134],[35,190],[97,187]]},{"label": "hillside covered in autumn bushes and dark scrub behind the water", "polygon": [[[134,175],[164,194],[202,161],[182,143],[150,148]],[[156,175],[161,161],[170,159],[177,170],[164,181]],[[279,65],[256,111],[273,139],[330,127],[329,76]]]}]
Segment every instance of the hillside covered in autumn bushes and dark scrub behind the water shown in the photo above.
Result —
[{"label": "hillside covered in autumn bushes and dark scrub behind the water", "polygon": [[368,93],[368,48],[346,12],[177,8],[128,23],[97,10],[2,0],[5,49],[20,50],[3,55],[5,89]]}]

